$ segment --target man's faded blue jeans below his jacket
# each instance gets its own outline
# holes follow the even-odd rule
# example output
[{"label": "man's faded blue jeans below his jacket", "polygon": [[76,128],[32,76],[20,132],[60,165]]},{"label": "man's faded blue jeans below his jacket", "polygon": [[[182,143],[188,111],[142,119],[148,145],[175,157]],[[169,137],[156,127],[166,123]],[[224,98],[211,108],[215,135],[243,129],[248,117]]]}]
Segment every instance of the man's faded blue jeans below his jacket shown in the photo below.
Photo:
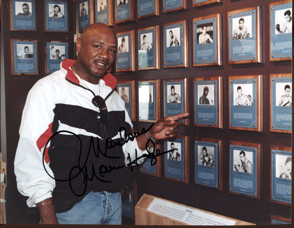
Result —
[{"label": "man's faded blue jeans below his jacket", "polygon": [[56,213],[59,224],[122,224],[121,193],[90,192],[72,209]]}]

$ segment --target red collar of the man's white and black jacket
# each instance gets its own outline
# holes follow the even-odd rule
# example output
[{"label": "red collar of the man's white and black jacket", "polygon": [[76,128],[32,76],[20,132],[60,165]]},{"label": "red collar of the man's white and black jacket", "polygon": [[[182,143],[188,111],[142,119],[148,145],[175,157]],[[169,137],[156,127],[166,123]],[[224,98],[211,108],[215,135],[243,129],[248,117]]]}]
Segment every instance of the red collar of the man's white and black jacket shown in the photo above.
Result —
[{"label": "red collar of the man's white and black jacket", "polygon": [[[75,84],[80,85],[78,78],[75,76],[75,74],[73,73],[73,71],[70,68],[71,66],[73,66],[74,62],[75,62],[75,60],[67,58],[61,62],[61,66],[67,72],[65,78]],[[116,78],[110,73],[108,73],[107,75],[105,75],[103,77],[103,81],[105,82],[105,85],[111,87],[111,89],[114,89],[117,86]]]}]

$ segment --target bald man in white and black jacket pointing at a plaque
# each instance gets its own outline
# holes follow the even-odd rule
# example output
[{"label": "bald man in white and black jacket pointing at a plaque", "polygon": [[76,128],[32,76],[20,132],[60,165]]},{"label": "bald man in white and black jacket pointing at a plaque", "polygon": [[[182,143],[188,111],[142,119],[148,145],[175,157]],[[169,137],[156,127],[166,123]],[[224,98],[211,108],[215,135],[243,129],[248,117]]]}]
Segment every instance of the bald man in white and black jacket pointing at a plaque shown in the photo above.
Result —
[{"label": "bald man in white and black jacket pointing at a plaque", "polygon": [[[147,142],[174,138],[188,113],[160,119],[132,137],[132,122],[108,73],[117,53],[111,28],[91,24],[76,60],[29,91],[14,168],[17,186],[41,224],[121,224],[121,189]],[[125,137],[124,137],[125,136]]]}]

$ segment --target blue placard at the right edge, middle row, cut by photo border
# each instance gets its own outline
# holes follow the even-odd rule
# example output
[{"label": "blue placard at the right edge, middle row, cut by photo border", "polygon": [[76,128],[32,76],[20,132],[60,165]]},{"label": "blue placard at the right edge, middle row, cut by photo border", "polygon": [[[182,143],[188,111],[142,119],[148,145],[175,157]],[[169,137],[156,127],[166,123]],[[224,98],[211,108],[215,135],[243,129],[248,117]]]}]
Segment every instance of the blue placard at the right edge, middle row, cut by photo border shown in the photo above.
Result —
[{"label": "blue placard at the right edge, middle row, cut by photo border", "polygon": [[292,78],[271,79],[271,129],[292,130]]}]

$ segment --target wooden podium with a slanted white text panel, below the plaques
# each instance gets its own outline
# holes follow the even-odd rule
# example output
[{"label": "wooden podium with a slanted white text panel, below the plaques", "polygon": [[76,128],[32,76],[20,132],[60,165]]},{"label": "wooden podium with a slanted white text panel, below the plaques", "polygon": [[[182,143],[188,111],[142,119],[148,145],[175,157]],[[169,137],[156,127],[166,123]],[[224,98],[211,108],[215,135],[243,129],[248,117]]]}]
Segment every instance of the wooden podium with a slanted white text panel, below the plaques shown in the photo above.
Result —
[{"label": "wooden podium with a slanted white text panel, below the plaques", "polygon": [[255,225],[144,194],[135,206],[136,225]]}]

